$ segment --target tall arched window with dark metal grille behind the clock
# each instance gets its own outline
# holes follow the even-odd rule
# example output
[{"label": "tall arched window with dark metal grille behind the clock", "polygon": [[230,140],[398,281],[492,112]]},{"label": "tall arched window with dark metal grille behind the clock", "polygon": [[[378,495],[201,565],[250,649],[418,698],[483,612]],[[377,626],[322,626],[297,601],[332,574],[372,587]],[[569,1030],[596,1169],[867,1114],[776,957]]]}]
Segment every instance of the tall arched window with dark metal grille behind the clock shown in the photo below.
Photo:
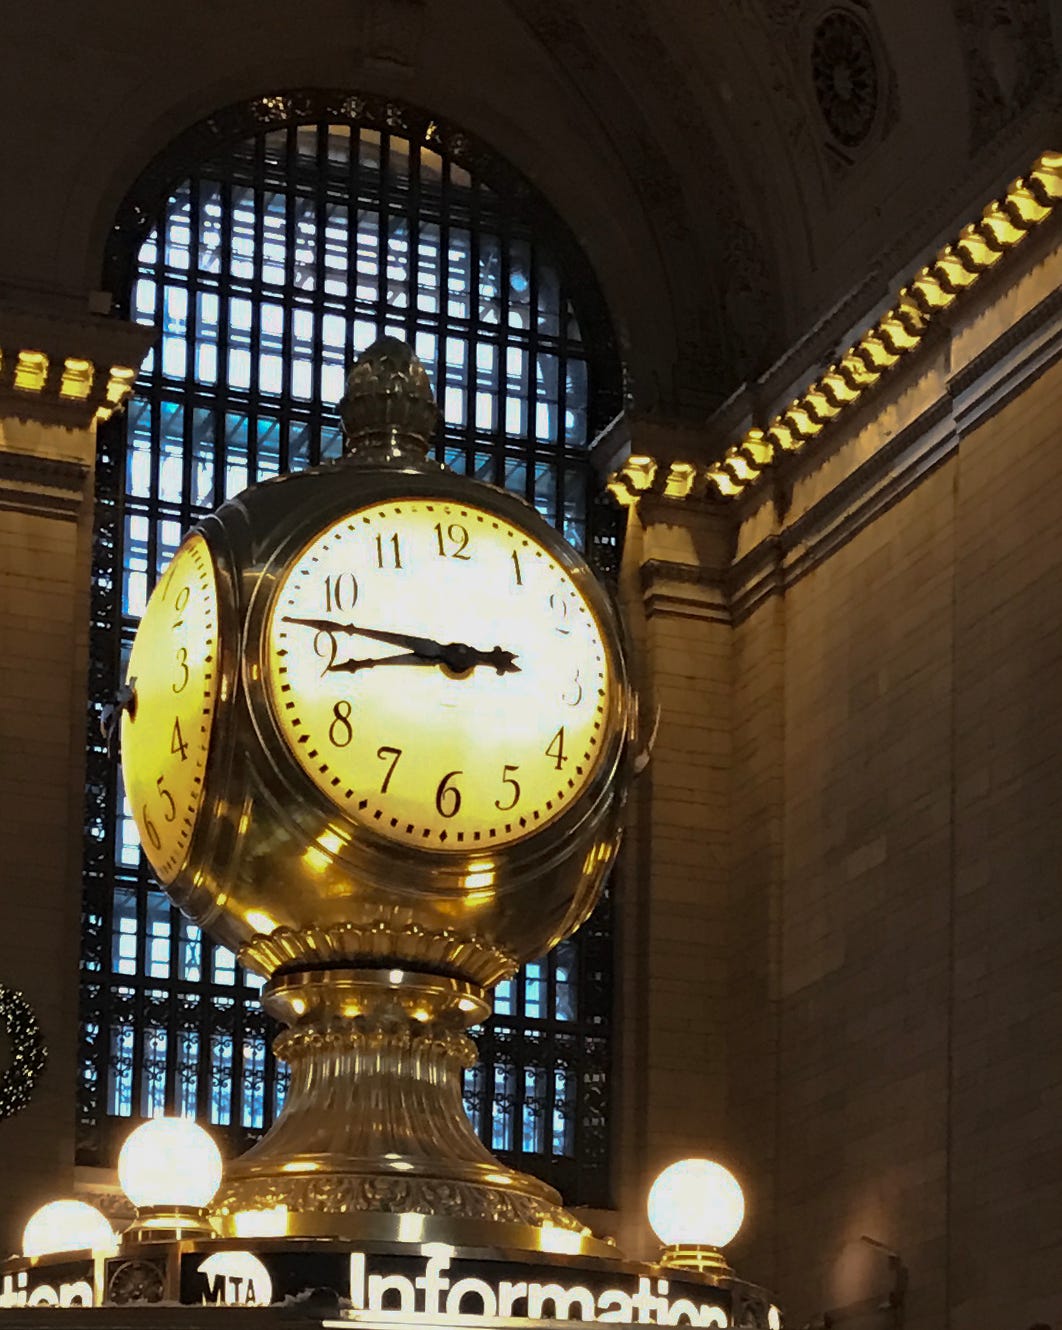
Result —
[{"label": "tall arched window with dark metal grille behind the clock", "polygon": [[[600,293],[544,201],[467,134],[358,97],[230,108],[141,177],[106,279],[162,335],[101,428],[93,709],[184,532],[338,455],[346,368],[381,332],[433,379],[439,459],[524,495],[599,563],[615,552],[587,452],[619,408]],[[94,714],[89,734],[80,1161],[113,1162],[129,1119],[162,1111],[242,1149],[285,1092],[261,980],[156,888]],[[604,910],[498,990],[466,1084],[487,1144],[574,1204],[607,1200],[610,975]]]}]

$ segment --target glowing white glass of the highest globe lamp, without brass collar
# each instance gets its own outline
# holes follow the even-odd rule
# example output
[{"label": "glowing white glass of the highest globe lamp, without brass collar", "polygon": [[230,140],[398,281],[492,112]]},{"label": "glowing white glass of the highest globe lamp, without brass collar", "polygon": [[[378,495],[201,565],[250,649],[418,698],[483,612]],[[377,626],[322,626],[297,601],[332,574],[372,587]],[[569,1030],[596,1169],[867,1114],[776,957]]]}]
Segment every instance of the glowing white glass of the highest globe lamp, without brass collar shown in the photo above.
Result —
[{"label": "glowing white glass of the highest globe lamp, without brass collar", "polygon": [[209,1205],[221,1186],[221,1153],[189,1117],[153,1117],[125,1138],[118,1182],[133,1205]]}]

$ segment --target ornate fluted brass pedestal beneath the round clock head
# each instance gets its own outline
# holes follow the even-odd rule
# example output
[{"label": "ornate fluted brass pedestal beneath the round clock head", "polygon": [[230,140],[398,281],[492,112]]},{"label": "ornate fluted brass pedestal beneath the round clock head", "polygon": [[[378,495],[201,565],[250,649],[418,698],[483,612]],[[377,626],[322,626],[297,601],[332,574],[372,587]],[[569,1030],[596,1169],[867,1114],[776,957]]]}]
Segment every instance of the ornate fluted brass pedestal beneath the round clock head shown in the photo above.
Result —
[{"label": "ornate fluted brass pedestal beneath the round clock head", "polygon": [[483,990],[318,970],[274,980],[262,1003],[291,1027],[275,1044],[291,1081],[266,1137],[226,1170],[213,1205],[222,1233],[270,1212],[287,1236],[615,1257],[552,1188],[499,1164],[472,1132],[460,1075],[475,1063],[464,1031],[490,1015]]}]

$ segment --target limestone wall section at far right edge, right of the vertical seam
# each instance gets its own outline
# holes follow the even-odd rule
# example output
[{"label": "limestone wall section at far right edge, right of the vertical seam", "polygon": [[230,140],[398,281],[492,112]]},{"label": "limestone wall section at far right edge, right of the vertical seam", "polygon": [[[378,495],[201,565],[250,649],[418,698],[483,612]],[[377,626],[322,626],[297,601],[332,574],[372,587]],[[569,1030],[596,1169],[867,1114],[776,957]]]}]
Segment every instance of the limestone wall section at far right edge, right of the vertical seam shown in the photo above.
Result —
[{"label": "limestone wall section at far right edge, right of the vertical seam", "polygon": [[[956,505],[950,1266],[958,1330],[1062,1305],[1062,366],[966,443]],[[958,1277],[958,1271],[964,1271]]]}]

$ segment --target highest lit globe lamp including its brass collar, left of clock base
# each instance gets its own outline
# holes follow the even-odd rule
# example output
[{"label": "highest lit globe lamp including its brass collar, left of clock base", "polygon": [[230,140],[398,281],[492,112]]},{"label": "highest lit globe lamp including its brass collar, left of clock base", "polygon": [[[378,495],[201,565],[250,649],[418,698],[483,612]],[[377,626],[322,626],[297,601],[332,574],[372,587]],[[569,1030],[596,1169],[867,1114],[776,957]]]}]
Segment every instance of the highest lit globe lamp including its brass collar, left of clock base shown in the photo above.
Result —
[{"label": "highest lit globe lamp including its brass collar, left of clock base", "polygon": [[142,1123],[121,1148],[118,1182],[137,1212],[125,1241],[214,1234],[206,1206],[221,1185],[221,1153],[198,1123],[188,1117]]}]

